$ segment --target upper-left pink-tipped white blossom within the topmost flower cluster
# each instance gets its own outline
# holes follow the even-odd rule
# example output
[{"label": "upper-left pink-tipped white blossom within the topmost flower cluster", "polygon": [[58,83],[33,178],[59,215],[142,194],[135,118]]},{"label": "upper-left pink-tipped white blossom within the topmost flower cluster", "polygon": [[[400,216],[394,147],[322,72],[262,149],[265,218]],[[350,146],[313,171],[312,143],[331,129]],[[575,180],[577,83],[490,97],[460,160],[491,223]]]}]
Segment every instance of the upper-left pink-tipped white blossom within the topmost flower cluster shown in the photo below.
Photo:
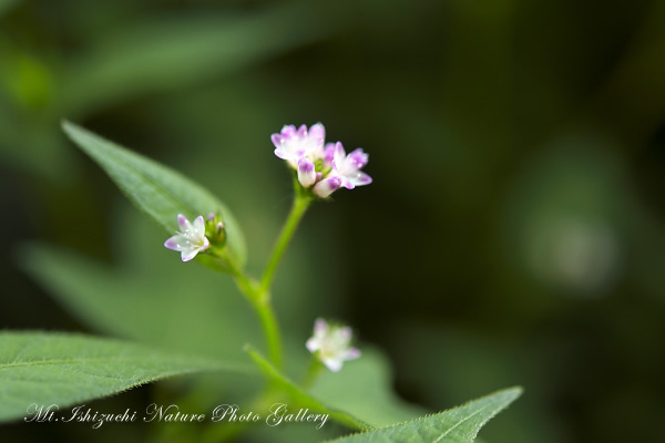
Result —
[{"label": "upper-left pink-tipped white blossom within the topmost flower cluster", "polygon": [[311,161],[323,156],[326,128],[317,123],[307,131],[306,125],[296,130],[294,125],[286,125],[279,134],[273,134],[270,140],[275,145],[275,155],[288,162],[294,169],[303,157]]}]

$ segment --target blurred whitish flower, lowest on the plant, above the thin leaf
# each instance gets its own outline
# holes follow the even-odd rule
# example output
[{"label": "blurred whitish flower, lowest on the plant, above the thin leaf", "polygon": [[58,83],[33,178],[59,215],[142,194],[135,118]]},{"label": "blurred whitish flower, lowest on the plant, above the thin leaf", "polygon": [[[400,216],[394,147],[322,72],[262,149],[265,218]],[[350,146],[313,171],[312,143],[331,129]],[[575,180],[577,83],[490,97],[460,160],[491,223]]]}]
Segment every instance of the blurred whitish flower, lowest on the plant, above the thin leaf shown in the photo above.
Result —
[{"label": "blurred whitish flower, lowest on the plant, above the thin leaf", "polygon": [[329,326],[326,320],[317,319],[314,323],[314,337],[307,340],[306,347],[332,372],[341,369],[345,361],[360,357],[360,351],[351,348],[352,332],[349,327]]}]

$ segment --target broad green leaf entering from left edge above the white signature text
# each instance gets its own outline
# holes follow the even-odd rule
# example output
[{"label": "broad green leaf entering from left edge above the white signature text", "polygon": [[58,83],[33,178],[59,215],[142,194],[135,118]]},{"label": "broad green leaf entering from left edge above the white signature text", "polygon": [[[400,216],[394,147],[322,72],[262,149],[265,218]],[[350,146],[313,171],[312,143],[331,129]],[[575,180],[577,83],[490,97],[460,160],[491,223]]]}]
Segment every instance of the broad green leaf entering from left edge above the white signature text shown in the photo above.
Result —
[{"label": "broad green leaf entering from left edge above the white signature text", "polygon": [[0,421],[31,404],[69,406],[172,375],[248,372],[214,360],[69,333],[0,332]]}]

